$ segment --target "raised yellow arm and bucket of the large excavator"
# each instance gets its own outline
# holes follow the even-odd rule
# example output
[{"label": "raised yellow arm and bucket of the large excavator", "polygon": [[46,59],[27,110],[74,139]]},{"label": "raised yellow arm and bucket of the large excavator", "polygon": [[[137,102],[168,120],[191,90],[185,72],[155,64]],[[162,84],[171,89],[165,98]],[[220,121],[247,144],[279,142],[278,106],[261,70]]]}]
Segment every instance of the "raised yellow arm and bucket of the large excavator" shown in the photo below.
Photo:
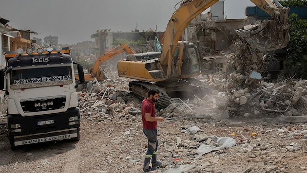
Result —
[{"label": "raised yellow arm and bucket of the large excavator", "polygon": [[[218,0],[183,0],[178,9],[169,20],[164,33],[163,45],[161,48],[160,64],[166,76],[171,75],[171,64],[175,47],[180,40],[183,31],[193,18],[211,7]],[[265,20],[255,31],[238,31],[238,35],[244,37],[252,47],[260,51],[281,49],[287,46],[289,41],[288,33],[288,8],[275,6],[271,0],[250,0],[260,7],[271,17]]]}]

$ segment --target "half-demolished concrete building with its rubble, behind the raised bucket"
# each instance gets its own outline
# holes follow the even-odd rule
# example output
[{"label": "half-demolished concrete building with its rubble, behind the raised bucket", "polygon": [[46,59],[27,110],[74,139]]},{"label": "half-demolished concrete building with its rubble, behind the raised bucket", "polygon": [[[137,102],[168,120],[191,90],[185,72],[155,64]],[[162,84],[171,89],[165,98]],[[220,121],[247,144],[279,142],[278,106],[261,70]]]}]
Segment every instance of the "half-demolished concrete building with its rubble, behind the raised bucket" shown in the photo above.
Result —
[{"label": "half-demolished concrete building with its rubble, behind the raised bucket", "polygon": [[[184,35],[188,40],[198,41],[204,75],[209,76],[208,82],[214,83],[210,85],[214,85],[217,92],[228,97],[228,101],[223,99],[226,105],[221,108],[235,110],[236,114],[246,117],[304,115],[307,81],[283,76],[286,50],[261,52],[235,33],[238,28],[255,27],[264,19],[253,14],[257,7],[247,8],[246,19],[224,19],[223,10],[218,8],[223,8],[223,4],[196,17]],[[283,118],[283,121],[296,120]]]}]

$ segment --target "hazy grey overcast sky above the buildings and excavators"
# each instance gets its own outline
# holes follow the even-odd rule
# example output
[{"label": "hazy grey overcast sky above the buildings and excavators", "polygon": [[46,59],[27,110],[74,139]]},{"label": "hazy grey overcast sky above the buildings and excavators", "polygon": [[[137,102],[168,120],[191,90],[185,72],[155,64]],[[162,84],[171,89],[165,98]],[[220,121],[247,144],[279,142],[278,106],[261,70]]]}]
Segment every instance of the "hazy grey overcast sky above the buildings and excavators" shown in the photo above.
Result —
[{"label": "hazy grey overcast sky above the buildings and excavators", "polygon": [[[0,0],[0,17],[15,29],[31,30],[31,38],[58,36],[60,44],[95,41],[97,30],[163,32],[180,0]],[[225,0],[228,19],[246,18],[249,0]],[[177,6],[178,7],[178,6]]]}]

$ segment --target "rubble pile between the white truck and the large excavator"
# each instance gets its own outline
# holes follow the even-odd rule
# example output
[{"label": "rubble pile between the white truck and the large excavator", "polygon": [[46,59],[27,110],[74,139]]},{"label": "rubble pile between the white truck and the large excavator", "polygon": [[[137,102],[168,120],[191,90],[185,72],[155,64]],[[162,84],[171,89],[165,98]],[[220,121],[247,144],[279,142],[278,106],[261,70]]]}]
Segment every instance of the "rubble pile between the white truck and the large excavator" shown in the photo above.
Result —
[{"label": "rubble pile between the white truck and the large excavator", "polygon": [[108,75],[103,83],[92,83],[79,91],[82,119],[103,123],[121,118],[133,119],[140,114],[140,100],[129,93],[126,79]]}]

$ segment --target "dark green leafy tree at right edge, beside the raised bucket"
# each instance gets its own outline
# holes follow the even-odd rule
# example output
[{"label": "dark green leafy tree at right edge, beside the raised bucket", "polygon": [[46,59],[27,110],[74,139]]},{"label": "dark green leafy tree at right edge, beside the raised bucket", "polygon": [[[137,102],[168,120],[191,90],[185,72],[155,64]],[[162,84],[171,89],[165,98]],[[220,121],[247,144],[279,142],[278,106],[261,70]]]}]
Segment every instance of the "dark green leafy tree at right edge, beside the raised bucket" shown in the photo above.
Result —
[{"label": "dark green leafy tree at right edge, beside the raised bucket", "polygon": [[285,69],[296,74],[297,78],[307,78],[307,21],[298,18],[297,14],[288,17],[290,42]]}]

